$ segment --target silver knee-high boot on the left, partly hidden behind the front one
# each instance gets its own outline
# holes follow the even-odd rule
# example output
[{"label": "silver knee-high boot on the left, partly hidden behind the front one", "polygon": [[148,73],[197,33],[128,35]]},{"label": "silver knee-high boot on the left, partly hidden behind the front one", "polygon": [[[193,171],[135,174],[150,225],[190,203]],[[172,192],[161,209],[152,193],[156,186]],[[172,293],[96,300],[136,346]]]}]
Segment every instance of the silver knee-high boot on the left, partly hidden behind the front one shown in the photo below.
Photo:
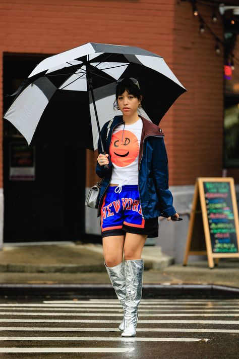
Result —
[{"label": "silver knee-high boot on the left, partly hidden behind the front one", "polygon": [[[125,279],[125,267],[124,263],[121,262],[113,267],[107,267],[104,263],[106,271],[108,273],[109,279],[112,283],[112,286],[115,290],[115,293],[120,300],[123,310],[125,313],[125,299],[126,299],[126,279]],[[125,319],[118,326],[118,329],[123,331],[125,329]]]}]

